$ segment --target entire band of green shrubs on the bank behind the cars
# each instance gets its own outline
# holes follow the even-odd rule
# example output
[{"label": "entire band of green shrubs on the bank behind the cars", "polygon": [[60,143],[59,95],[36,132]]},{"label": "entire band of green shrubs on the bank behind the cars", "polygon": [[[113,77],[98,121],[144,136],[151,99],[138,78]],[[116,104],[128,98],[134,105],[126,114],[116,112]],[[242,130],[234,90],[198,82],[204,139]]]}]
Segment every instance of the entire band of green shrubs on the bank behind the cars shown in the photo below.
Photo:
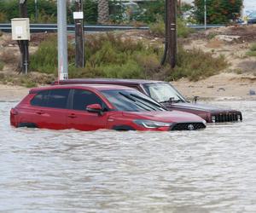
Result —
[{"label": "entire band of green shrubs on the bank behind the cars", "polygon": [[[199,49],[179,48],[177,67],[160,66],[163,49],[122,38],[112,33],[87,37],[86,66],[74,66],[74,47],[69,44],[70,78],[189,78],[198,80],[218,73],[228,66],[224,56],[212,57]],[[57,75],[56,37],[40,44],[31,57],[33,71]]]}]

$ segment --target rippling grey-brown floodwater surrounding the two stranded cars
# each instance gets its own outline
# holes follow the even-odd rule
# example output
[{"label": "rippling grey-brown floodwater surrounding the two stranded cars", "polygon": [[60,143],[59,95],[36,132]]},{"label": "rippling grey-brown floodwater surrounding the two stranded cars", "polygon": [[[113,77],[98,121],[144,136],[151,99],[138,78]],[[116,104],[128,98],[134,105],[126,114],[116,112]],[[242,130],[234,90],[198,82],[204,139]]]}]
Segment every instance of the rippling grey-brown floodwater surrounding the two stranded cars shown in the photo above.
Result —
[{"label": "rippling grey-brown floodwater surrounding the two stranded cars", "polygon": [[0,102],[0,212],[255,212],[256,101],[185,132],[14,129]]}]

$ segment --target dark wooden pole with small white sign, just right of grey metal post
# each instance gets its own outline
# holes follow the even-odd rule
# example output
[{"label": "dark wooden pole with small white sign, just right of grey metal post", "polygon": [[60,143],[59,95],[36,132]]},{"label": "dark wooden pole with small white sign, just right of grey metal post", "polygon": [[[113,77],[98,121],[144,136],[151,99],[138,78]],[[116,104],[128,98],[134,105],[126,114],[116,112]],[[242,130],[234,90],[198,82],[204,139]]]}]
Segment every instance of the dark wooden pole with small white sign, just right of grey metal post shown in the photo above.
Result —
[{"label": "dark wooden pole with small white sign, just right of grey metal post", "polygon": [[73,13],[75,20],[76,37],[76,66],[84,67],[84,12],[83,0],[75,1],[76,12]]}]

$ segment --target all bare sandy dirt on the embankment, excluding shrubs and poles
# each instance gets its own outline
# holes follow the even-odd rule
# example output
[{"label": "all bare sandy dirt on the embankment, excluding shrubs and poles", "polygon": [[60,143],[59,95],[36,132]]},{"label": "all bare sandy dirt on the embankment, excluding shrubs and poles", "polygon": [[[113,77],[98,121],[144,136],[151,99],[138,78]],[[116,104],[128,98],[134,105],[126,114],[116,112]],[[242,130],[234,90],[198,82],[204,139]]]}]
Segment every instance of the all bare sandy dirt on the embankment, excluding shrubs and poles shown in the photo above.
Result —
[{"label": "all bare sandy dirt on the embankment, excluding shrubs and poles", "polygon": [[[125,32],[124,36],[149,43],[162,43],[163,40],[161,37],[150,36],[148,32],[131,31]],[[31,53],[36,51],[38,43],[45,37],[47,35],[32,35]],[[197,95],[203,99],[256,100],[256,95],[250,95],[250,91],[253,94],[256,90],[256,57],[247,56],[251,45],[256,43],[256,26],[228,26],[207,32],[197,32],[182,42],[185,43],[185,49],[202,49],[216,57],[224,55],[230,64],[227,70],[211,78],[198,82],[189,82],[187,79],[172,82],[185,97],[192,98]],[[9,34],[3,34],[0,37],[0,59],[8,55],[12,58],[5,60],[12,61],[14,58],[18,60],[19,48],[15,42],[11,41]],[[15,73],[14,64],[4,66],[3,71],[0,72],[0,78],[1,73]],[[0,101],[19,100],[27,94],[28,90],[0,83]]]}]

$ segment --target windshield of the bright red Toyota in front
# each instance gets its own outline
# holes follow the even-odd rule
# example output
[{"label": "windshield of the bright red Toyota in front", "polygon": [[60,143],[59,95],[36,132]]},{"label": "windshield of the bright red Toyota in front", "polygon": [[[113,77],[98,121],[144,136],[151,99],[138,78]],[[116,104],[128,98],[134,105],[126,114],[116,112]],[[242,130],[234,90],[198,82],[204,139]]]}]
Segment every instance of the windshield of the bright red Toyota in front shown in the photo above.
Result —
[{"label": "windshield of the bright red Toyota in front", "polygon": [[102,95],[105,95],[118,111],[166,111],[158,102],[137,90],[104,90]]}]

